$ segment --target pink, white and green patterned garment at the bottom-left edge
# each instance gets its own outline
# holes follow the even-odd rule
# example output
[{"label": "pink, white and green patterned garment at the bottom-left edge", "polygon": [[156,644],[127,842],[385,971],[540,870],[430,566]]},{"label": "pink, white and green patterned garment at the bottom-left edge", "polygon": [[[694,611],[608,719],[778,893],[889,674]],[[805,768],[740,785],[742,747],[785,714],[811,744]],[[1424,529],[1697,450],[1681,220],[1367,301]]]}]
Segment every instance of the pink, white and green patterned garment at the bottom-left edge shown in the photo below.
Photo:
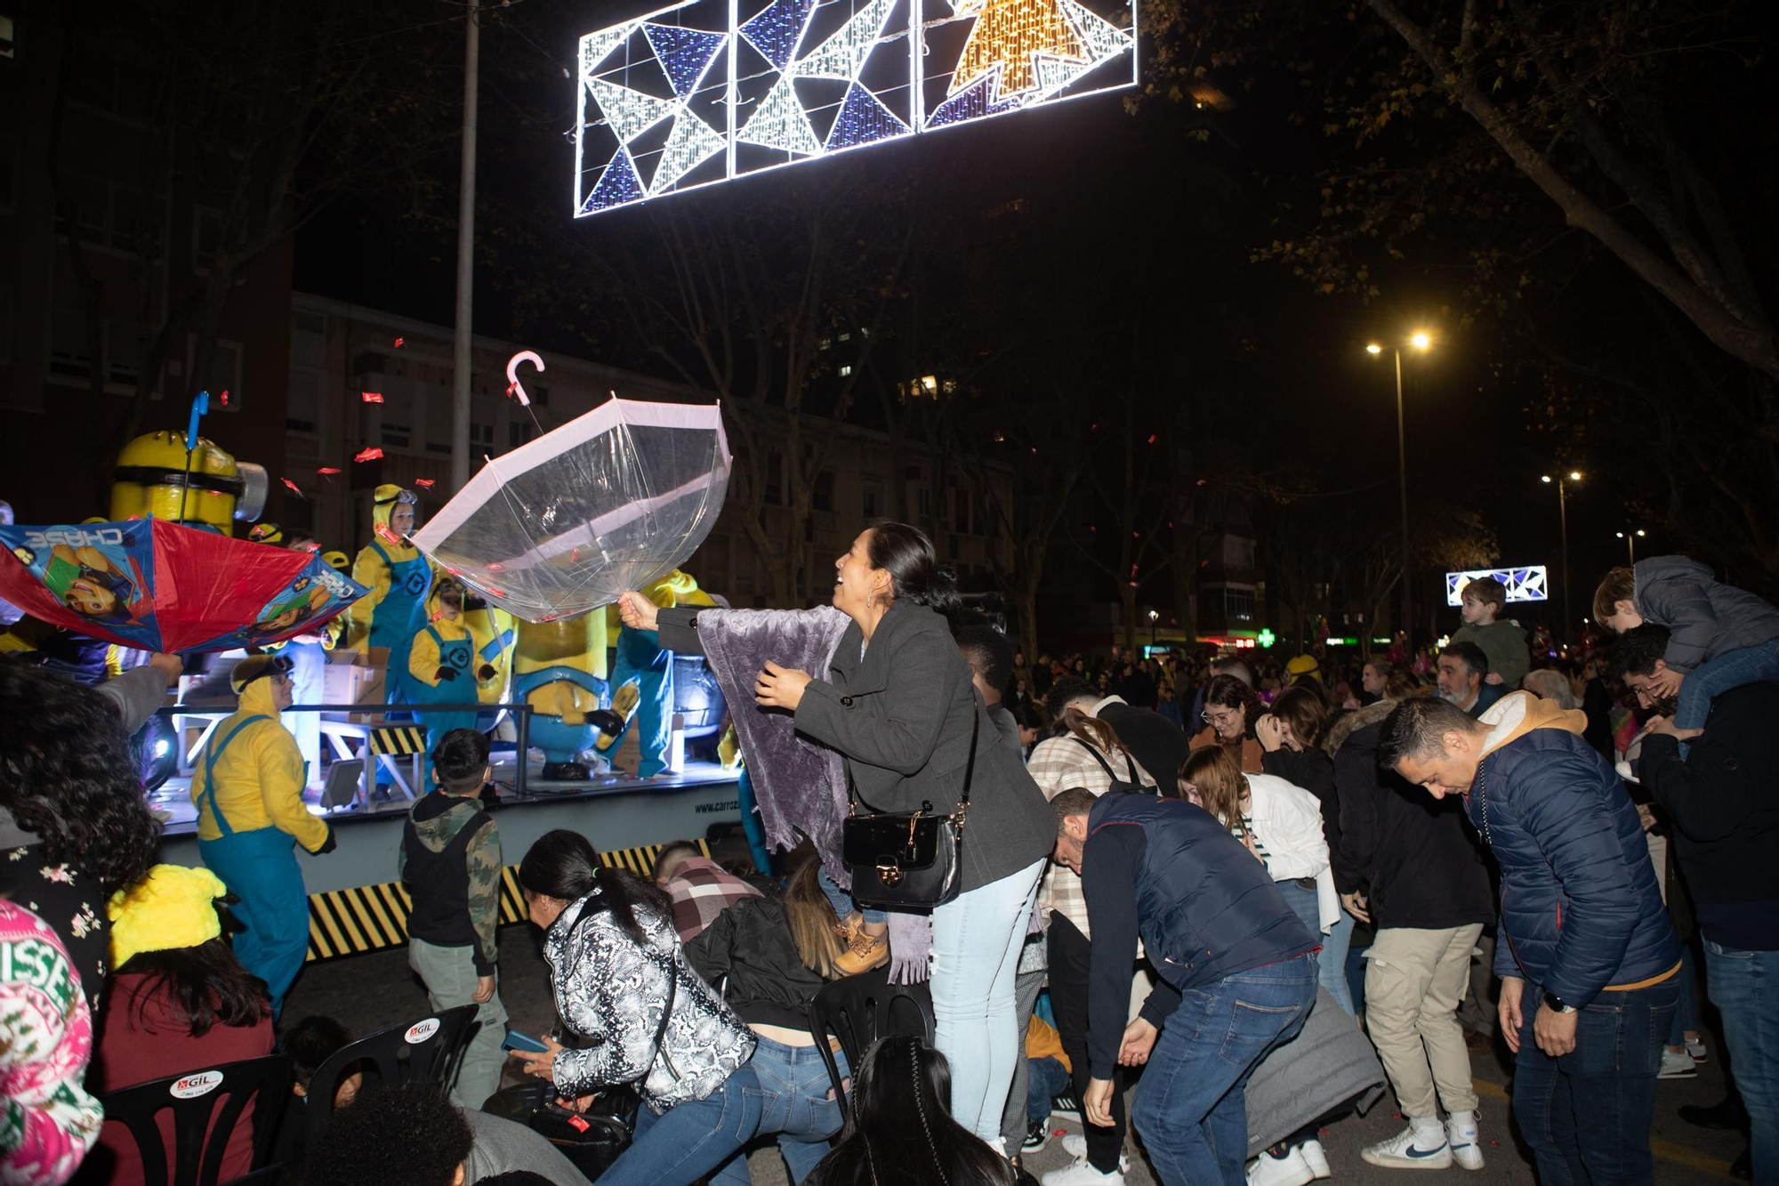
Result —
[{"label": "pink, white and green patterned garment at the bottom-left edge", "polygon": [[103,1113],[82,1086],[93,1015],[62,942],[0,899],[0,1181],[60,1186],[93,1147]]}]

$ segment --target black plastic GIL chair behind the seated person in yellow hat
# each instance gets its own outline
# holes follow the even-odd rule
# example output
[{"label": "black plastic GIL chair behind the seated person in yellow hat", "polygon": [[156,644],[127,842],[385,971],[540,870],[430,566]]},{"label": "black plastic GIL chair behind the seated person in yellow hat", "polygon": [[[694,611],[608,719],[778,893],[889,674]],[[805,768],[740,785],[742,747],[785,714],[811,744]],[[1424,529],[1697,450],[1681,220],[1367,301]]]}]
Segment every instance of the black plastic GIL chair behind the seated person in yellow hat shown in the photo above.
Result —
[{"label": "black plastic GIL chair behind the seated person in yellow hat", "polygon": [[[142,1154],[146,1186],[217,1186],[222,1152],[249,1099],[253,1109],[253,1163],[263,1166],[290,1090],[290,1061],[283,1054],[224,1063],[208,1070],[139,1083],[101,1097],[105,1118],[130,1129]],[[173,1111],[173,1177],[167,1177],[167,1145],[158,1117]],[[210,1136],[205,1136],[210,1129]],[[253,1179],[260,1181],[260,1179]],[[276,1181],[265,1179],[265,1181]]]}]

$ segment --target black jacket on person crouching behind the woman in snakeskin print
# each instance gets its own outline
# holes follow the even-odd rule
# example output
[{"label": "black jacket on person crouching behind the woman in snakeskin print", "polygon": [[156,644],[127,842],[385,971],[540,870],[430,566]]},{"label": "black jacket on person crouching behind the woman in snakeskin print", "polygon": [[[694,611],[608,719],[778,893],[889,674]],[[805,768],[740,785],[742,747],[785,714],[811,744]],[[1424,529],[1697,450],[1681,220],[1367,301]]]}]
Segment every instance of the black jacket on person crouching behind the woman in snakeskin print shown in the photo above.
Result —
[{"label": "black jacket on person crouching behind the woman in snakeskin print", "polygon": [[825,983],[797,956],[785,903],[744,898],[719,914],[685,946],[692,971],[715,988],[749,1026],[809,1028],[809,1001]]}]

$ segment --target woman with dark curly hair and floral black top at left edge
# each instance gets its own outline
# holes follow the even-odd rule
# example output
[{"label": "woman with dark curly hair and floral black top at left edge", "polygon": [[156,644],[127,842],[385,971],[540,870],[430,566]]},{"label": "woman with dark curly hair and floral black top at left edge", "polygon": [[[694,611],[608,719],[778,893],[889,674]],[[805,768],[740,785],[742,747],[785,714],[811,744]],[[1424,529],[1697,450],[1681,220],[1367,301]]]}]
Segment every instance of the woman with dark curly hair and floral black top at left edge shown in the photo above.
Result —
[{"label": "woman with dark curly hair and floral black top at left edge", "polygon": [[155,864],[148,810],[117,705],[75,680],[0,662],[0,894],[68,947],[89,1004],[110,967],[105,898]]}]

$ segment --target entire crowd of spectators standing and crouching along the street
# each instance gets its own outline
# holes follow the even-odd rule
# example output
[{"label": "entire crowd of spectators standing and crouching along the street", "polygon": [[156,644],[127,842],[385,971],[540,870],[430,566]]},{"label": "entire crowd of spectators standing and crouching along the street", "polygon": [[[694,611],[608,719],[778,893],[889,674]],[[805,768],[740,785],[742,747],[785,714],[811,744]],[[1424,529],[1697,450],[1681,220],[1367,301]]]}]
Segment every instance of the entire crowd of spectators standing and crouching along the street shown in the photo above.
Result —
[{"label": "entire crowd of spectators standing and crouching along the street", "polygon": [[[541,1081],[569,1115],[635,1092],[600,1175],[619,1186],[745,1182],[761,1141],[793,1182],[1012,1184],[1059,1095],[1083,1133],[1044,1186],[1121,1186],[1131,1134],[1167,1186],[1306,1186],[1331,1175],[1324,1141],[1354,1101],[1316,1101],[1251,1150],[1245,1084],[1316,1013],[1363,1026],[1404,1117],[1366,1163],[1484,1168],[1469,1058],[1500,1042],[1541,1181],[1647,1182],[1656,1083],[1706,1056],[1703,962],[1736,1088],[1717,1113],[1751,1133],[1754,1179],[1779,1181],[1761,997],[1779,951],[1779,611],[1654,557],[1601,582],[1612,636],[1557,655],[1505,600],[1471,582],[1437,655],[1026,662],[1000,630],[957,627],[920,531],[879,524],[836,561],[843,620],[786,618],[831,630],[825,668],[767,661],[754,705],[731,703],[838,757],[836,817],[801,821],[815,851],[772,878],[671,844],[644,878],[578,832],[539,837],[518,883],[560,1024],[537,1042],[509,1036],[500,999],[489,739],[434,728],[395,857],[431,1008],[479,1022],[443,1086],[317,1081],[350,1035],[281,1017],[308,930],[294,846],[334,842],[279,718],[288,659],[235,668],[238,711],[190,791],[203,869],[155,862],[128,750],[178,661],[96,686],[0,661],[0,1172],[155,1177],[100,1097],[281,1051],[290,1095],[254,1108],[276,1109],[292,1179],[318,1182],[585,1181],[486,1111],[503,1081]],[[639,595],[619,609],[681,654],[731,629]],[[770,755],[747,760],[767,782]],[[961,837],[923,930],[824,848],[849,803]],[[891,960],[927,979],[932,1042],[884,1036],[849,1067],[811,1001]],[[237,1120],[222,1181],[251,1168],[253,1129]]]}]

